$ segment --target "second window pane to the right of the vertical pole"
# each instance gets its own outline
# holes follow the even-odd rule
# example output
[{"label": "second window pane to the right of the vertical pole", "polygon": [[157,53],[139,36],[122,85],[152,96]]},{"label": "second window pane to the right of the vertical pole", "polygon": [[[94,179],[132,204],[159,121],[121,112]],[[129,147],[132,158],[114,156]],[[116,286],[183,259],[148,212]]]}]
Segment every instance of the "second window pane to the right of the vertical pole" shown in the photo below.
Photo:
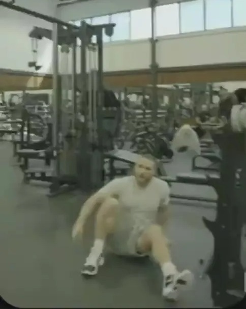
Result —
[{"label": "second window pane to the right of the vertical pole", "polygon": [[180,3],[181,33],[204,30],[203,0]]}]

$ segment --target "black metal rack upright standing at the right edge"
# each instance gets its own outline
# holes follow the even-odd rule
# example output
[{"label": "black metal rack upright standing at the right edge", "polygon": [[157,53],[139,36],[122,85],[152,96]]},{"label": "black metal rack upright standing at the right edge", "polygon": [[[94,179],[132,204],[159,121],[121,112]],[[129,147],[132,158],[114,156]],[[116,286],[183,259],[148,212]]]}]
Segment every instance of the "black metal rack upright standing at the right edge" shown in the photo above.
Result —
[{"label": "black metal rack upright standing at the right edge", "polygon": [[214,251],[206,272],[211,280],[214,306],[227,307],[245,295],[244,270],[241,264],[241,236],[246,207],[245,134],[229,128],[215,138],[222,152],[220,179],[208,176],[208,184],[218,194],[215,221],[203,218],[214,237]]}]

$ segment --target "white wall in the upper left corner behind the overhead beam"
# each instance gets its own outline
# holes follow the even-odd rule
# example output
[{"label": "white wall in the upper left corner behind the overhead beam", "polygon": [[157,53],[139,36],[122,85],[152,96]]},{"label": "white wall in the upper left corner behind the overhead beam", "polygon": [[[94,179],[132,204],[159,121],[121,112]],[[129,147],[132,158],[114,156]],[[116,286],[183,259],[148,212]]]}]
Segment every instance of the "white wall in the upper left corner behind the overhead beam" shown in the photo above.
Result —
[{"label": "white wall in the upper left corner behind the overhead beam", "polygon": [[[55,15],[56,0],[17,0],[16,4],[49,16]],[[0,68],[33,71],[27,66],[32,61],[32,48],[28,33],[33,26],[50,28],[50,23],[0,6]],[[38,62],[42,72],[50,67],[52,42],[43,39],[39,43]]]}]

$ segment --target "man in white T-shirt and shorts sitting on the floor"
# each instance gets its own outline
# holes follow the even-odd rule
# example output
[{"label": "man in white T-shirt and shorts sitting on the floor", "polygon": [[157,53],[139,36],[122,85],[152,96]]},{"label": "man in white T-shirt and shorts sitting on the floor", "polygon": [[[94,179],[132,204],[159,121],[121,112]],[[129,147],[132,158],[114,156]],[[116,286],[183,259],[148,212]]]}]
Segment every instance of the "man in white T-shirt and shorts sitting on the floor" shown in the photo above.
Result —
[{"label": "man in white T-shirt and shorts sitting on the floor", "polygon": [[149,255],[163,273],[163,296],[176,300],[178,289],[190,286],[193,275],[189,270],[179,272],[172,262],[163,230],[170,189],[165,181],[155,177],[155,172],[155,162],[141,157],[133,176],[110,181],[84,203],[72,234],[75,238],[83,233],[86,220],[98,207],[95,241],[82,274],[97,274],[104,261],[105,245],[117,255]]}]

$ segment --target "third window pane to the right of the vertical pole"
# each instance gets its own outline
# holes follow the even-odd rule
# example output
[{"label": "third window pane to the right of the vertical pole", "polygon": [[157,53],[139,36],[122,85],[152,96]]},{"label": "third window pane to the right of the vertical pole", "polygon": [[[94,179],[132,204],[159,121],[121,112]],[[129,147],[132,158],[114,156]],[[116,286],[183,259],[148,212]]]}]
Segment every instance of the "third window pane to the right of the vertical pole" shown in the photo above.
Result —
[{"label": "third window pane to the right of the vertical pole", "polygon": [[[206,1],[206,29],[231,27],[231,0]],[[243,0],[244,1],[244,0]]]}]

